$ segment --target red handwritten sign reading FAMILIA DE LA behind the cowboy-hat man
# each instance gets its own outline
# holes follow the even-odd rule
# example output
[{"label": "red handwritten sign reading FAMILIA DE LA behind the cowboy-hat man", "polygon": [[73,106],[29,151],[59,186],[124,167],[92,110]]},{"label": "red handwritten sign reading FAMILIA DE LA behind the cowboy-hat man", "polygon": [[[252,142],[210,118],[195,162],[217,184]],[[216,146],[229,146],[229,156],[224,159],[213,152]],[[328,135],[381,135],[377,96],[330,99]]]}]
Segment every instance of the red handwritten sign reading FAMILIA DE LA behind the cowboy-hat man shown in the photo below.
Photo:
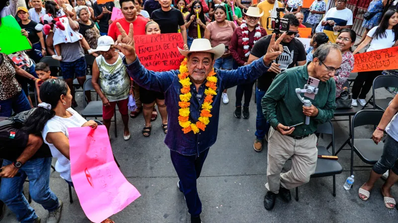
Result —
[{"label": "red handwritten sign reading FAMILIA DE LA behind the cowboy-hat man", "polygon": [[141,64],[150,71],[178,70],[184,60],[177,49],[184,49],[181,33],[137,35],[134,42]]}]

